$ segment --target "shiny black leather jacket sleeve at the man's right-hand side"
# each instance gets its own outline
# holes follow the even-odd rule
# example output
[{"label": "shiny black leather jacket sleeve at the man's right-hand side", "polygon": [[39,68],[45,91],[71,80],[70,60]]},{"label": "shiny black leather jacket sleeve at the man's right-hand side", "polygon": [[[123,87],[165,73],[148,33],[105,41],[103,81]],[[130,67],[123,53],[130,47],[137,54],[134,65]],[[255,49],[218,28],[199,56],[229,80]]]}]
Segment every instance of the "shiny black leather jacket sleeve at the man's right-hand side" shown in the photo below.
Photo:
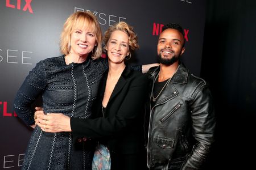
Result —
[{"label": "shiny black leather jacket sleeve at the man's right-hand side", "polygon": [[183,170],[200,169],[214,142],[214,131],[216,128],[214,107],[212,95],[205,82],[201,82],[193,93],[191,117],[196,145],[193,146],[191,155],[184,162],[181,168]]}]

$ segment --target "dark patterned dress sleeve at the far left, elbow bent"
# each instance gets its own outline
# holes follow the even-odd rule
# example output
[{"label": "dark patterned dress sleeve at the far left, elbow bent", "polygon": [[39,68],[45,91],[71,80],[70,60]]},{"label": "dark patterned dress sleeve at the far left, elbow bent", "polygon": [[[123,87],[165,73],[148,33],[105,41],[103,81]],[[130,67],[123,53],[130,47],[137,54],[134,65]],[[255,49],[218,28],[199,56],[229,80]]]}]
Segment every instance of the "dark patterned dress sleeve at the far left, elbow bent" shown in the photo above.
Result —
[{"label": "dark patterned dress sleeve at the far left, elbow bent", "polygon": [[31,104],[34,103],[45,87],[46,73],[43,61],[40,61],[30,71],[14,99],[13,109],[26,125],[35,124],[34,109],[31,108]]}]

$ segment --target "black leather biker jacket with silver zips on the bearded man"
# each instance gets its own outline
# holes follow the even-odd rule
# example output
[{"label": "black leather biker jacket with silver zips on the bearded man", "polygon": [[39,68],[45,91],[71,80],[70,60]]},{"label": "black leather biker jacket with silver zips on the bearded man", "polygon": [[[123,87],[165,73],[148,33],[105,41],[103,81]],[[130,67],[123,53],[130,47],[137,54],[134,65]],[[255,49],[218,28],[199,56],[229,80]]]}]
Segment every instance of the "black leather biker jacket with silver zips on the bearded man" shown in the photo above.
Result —
[{"label": "black leather biker jacket with silver zips on the bearded man", "polygon": [[[160,67],[148,71],[154,78]],[[151,100],[151,94],[149,94]],[[150,169],[200,169],[214,141],[215,118],[208,84],[180,65],[155,105],[147,102]]]}]

